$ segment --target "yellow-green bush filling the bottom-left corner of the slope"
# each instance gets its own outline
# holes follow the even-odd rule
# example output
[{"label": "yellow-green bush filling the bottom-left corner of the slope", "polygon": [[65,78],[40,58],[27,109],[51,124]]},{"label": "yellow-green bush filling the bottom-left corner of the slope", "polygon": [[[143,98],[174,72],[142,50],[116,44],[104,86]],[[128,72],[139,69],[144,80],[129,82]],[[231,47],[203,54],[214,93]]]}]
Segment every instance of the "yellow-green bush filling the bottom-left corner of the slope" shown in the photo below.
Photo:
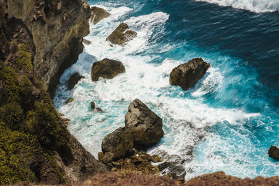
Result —
[{"label": "yellow-green bush filling the bottom-left corner of the slope", "polygon": [[31,135],[11,131],[5,123],[0,123],[0,184],[37,181],[27,166],[35,150],[34,143]]}]

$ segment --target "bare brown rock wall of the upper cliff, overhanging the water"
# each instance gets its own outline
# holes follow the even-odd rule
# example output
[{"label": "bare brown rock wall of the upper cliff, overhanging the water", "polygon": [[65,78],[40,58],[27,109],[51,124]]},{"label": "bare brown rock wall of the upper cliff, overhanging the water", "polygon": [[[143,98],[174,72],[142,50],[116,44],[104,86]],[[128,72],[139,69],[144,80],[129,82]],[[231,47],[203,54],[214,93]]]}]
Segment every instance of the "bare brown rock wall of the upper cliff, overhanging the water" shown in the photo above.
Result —
[{"label": "bare brown rock wall of the upper cliff, overhanging the water", "polygon": [[33,68],[53,95],[59,77],[77,61],[89,33],[90,7],[84,0],[0,0],[8,17],[24,22],[33,37]]}]

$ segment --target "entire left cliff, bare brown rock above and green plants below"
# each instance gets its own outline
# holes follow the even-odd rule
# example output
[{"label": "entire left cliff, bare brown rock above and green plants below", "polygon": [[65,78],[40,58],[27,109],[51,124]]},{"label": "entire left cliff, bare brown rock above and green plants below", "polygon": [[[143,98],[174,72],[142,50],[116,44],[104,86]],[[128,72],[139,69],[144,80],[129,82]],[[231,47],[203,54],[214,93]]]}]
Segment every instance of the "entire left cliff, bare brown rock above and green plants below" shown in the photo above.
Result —
[{"label": "entire left cliff, bare brown rock above and green plants below", "polygon": [[0,2],[0,184],[59,184],[106,171],[68,132],[45,89],[81,52],[88,5]]}]

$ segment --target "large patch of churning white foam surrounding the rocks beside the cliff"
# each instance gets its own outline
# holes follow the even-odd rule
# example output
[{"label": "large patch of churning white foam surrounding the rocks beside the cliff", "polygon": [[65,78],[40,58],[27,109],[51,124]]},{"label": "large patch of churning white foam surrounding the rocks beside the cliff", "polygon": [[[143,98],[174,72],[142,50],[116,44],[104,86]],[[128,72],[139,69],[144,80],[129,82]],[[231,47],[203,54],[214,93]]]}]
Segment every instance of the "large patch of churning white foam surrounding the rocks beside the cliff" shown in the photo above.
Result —
[{"label": "large patch of churning white foam surrounding the rocks beside the cliff", "polygon": [[[169,85],[169,72],[174,67],[186,61],[165,59],[162,63],[152,63],[153,59],[160,59],[161,52],[175,47],[175,45],[157,46],[156,39],[165,31],[165,22],[169,15],[158,12],[126,19],[126,13],[133,11],[127,7],[108,8],[112,15],[96,25],[91,24],[91,33],[86,39],[91,40],[85,46],[79,61],[61,77],[54,98],[56,107],[67,118],[70,132],[93,155],[100,151],[101,141],[118,127],[124,125],[124,116],[128,104],[135,98],[145,102],[158,116],[163,118],[165,136],[151,153],[165,150],[170,155],[180,155],[188,158],[188,150],[193,149],[199,142],[199,136],[206,134],[206,127],[216,123],[241,125],[259,114],[249,114],[240,109],[212,107],[204,102],[204,95],[218,93],[225,77],[219,68],[210,68],[206,75],[193,88],[182,91],[179,86]],[[131,29],[137,31],[137,37],[124,47],[114,45],[105,39],[121,23],[126,22]],[[144,52],[158,48],[157,54],[148,55]],[[92,82],[90,77],[93,61],[104,58],[123,62],[126,72],[114,79],[99,79]],[[208,61],[205,59],[205,61]],[[73,91],[68,91],[66,82],[70,75],[79,72],[84,75]],[[74,101],[64,104],[67,98]],[[105,112],[90,111],[90,102],[95,101],[97,107]],[[190,157],[189,157],[190,158]],[[195,168],[200,172],[203,168],[192,162],[186,169]],[[189,174],[193,175],[193,174]]]}]

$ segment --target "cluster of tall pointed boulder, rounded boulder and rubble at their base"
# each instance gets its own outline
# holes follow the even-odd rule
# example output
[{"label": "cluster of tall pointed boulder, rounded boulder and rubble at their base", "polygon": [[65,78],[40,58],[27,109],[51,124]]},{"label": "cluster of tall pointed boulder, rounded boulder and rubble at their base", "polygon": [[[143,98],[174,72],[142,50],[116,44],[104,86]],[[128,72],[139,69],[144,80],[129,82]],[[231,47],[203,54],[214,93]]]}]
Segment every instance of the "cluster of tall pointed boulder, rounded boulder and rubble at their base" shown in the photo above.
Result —
[{"label": "cluster of tall pointed boulder, rounded boulder and rubble at their base", "polygon": [[[144,135],[147,144],[154,144],[154,141],[158,142],[163,137],[162,119],[146,107],[144,103],[140,102],[140,100],[134,100],[130,105],[133,106],[133,109],[128,109],[128,112],[130,111],[131,113],[126,115],[128,126],[119,127],[114,132],[105,136],[102,141],[102,152],[98,153],[99,161],[110,166],[112,171],[126,169],[151,174],[159,173],[158,166],[153,166],[151,161],[162,162],[163,159],[158,155],[151,157],[151,155],[144,151],[134,150],[134,142],[138,134]],[[141,123],[142,126],[135,129],[134,121],[136,122],[134,124]],[[139,130],[141,131],[138,132]],[[154,132],[154,130],[158,130],[158,132]],[[149,135],[156,135],[156,140],[152,139]]]}]

